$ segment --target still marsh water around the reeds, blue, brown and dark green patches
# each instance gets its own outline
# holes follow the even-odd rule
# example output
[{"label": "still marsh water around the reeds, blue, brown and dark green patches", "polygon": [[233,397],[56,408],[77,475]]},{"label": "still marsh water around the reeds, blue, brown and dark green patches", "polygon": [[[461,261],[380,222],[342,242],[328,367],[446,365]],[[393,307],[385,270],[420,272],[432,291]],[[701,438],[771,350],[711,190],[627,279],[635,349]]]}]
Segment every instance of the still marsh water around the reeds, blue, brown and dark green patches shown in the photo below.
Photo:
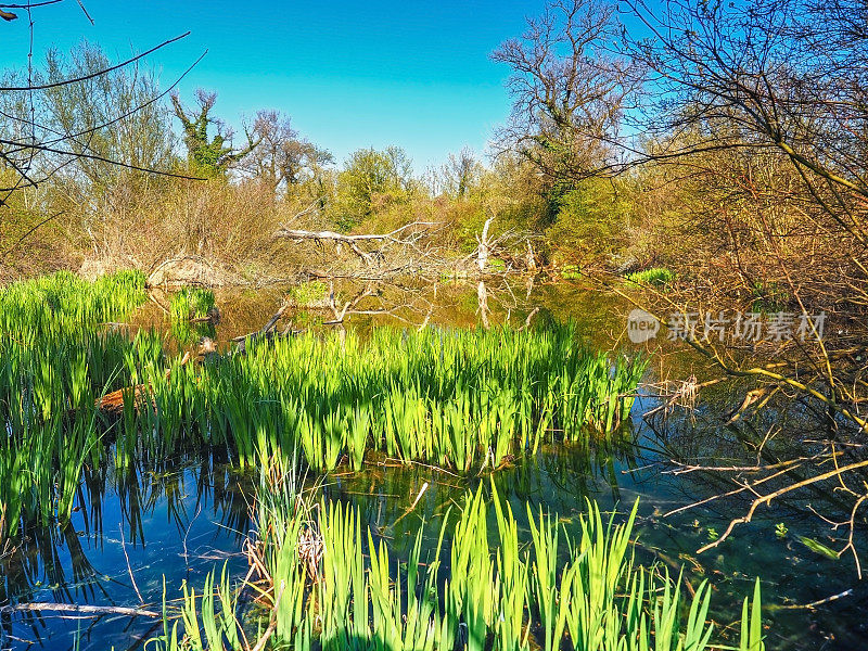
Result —
[{"label": "still marsh water around the reeds, blue, brown and dark green patches", "polygon": [[[846,531],[831,529],[815,514],[840,519],[832,493],[816,492],[807,501],[775,501],[702,554],[697,550],[742,515],[750,500],[732,496],[668,514],[732,488],[719,473],[682,472],[673,460],[754,464],[755,441],[767,426],[763,418],[780,425],[780,434],[768,446],[780,456],[799,455],[805,445],[799,443],[805,438],[804,429],[810,426],[804,414],[768,412],[757,421],[727,425],[727,411],[740,403],[743,392],[720,383],[703,390],[695,409],[676,408],[665,418],[660,412],[644,418],[660,405],[653,388],[660,380],[694,375],[702,381],[714,373],[674,343],[631,344],[625,326],[633,306],[592,289],[506,282],[434,288],[408,282],[344,283],[334,292],[339,309],[350,306],[345,327],[362,334],[378,324],[521,326],[532,315],[534,327],[572,319],[592,346],[651,356],[631,422],[614,443],[548,447],[483,476],[372,457],[362,472],[341,468],[320,477],[330,497],[359,507],[363,521],[390,541],[396,557],[408,553],[420,527],[427,547],[433,547],[443,519],[460,506],[468,488],[481,483],[486,488],[493,483],[521,523],[527,522],[524,505],[529,502],[534,509],[557,512],[567,528],[578,526],[588,498],[615,518],[623,518],[639,499],[638,559],[656,561],[675,575],[684,572],[682,580],[693,587],[709,579],[714,588],[712,615],[718,625],[738,620],[741,600],[760,576],[768,649],[868,647],[864,615],[868,589],[858,580],[852,557],[832,559],[803,541],[814,539],[833,549],[846,544]],[[212,330],[168,332],[155,304],[137,312],[129,327],[164,329],[179,348],[207,334],[218,349],[228,349],[233,337],[259,330],[284,294],[285,288],[279,285],[218,292],[222,318]],[[331,310],[299,307],[281,329],[328,329],[334,327],[328,324],[333,320],[337,319]],[[88,468],[68,526],[27,531],[18,545],[0,549],[0,604],[145,603],[158,611],[164,593],[168,602],[177,600],[184,579],[200,587],[215,566],[226,564],[240,579],[247,572],[242,545],[251,526],[247,513],[256,480],[255,473],[233,471],[214,456],[164,459],[149,468]],[[807,608],[829,598],[833,599]],[[0,649],[137,649],[162,633],[158,622],[122,614],[94,617],[0,608]]]}]

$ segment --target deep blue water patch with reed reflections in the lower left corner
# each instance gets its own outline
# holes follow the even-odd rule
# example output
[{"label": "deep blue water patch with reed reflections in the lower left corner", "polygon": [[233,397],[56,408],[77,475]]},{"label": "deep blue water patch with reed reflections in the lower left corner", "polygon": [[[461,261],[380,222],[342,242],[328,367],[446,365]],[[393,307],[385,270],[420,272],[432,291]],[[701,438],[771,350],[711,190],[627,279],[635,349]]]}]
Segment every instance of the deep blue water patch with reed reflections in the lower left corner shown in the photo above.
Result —
[{"label": "deep blue water patch with reed reflections in the lower left corner", "polygon": [[[174,598],[181,579],[201,582],[215,563],[228,559],[240,573],[251,485],[207,454],[167,459],[158,469],[87,468],[71,522],[25,526],[0,556],[0,603],[129,607],[139,604],[140,591],[159,610],[164,575]],[[141,617],[5,611],[0,648],[126,648],[152,627]]]}]

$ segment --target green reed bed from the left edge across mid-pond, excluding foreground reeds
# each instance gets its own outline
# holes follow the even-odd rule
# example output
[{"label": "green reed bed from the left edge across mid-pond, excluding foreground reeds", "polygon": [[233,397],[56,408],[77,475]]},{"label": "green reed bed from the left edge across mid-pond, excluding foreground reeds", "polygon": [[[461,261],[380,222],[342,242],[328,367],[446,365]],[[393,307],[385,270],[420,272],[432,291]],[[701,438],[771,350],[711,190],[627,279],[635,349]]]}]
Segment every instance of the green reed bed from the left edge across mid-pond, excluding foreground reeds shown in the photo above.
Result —
[{"label": "green reed bed from the left edge across mid-pond, excluding foreground reeds", "polygon": [[[85,463],[220,448],[257,465],[297,449],[316,471],[385,454],[476,472],[542,443],[615,437],[646,366],[588,349],[569,324],[308,333],[181,366],[158,333],[112,323],[145,301],[143,288],[123,272],[0,290],[0,536],[21,516],[68,518]],[[184,314],[201,294],[183,293]],[[94,407],[118,390],[120,413]]]}]

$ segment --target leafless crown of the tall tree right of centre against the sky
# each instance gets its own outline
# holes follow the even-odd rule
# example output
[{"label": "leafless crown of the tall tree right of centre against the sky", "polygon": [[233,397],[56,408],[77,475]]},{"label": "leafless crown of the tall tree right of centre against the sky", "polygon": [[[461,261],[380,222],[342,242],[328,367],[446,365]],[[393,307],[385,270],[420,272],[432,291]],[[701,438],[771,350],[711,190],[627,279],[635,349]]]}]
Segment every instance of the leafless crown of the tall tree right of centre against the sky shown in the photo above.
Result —
[{"label": "leafless crown of the tall tree right of centre against the sky", "polygon": [[516,148],[553,179],[579,179],[610,162],[635,87],[629,60],[609,53],[614,7],[598,0],[557,0],[527,21],[521,39],[492,58],[511,69],[513,97],[503,149]]}]

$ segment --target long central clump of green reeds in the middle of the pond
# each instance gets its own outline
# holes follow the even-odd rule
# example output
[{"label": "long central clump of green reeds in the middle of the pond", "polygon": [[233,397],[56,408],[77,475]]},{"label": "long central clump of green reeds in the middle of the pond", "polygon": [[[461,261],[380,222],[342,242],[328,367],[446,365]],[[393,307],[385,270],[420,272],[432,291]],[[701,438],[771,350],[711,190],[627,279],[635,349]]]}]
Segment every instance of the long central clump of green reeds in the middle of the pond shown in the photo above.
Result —
[{"label": "long central clump of green reeds in the middle of the pond", "polygon": [[368,450],[470,471],[544,442],[615,435],[644,366],[587,349],[571,326],[308,333],[251,343],[197,374],[155,374],[149,432],[170,439],[178,419],[196,423],[203,444],[228,445],[241,464],[297,446],[318,471],[342,458],[358,469]]}]

